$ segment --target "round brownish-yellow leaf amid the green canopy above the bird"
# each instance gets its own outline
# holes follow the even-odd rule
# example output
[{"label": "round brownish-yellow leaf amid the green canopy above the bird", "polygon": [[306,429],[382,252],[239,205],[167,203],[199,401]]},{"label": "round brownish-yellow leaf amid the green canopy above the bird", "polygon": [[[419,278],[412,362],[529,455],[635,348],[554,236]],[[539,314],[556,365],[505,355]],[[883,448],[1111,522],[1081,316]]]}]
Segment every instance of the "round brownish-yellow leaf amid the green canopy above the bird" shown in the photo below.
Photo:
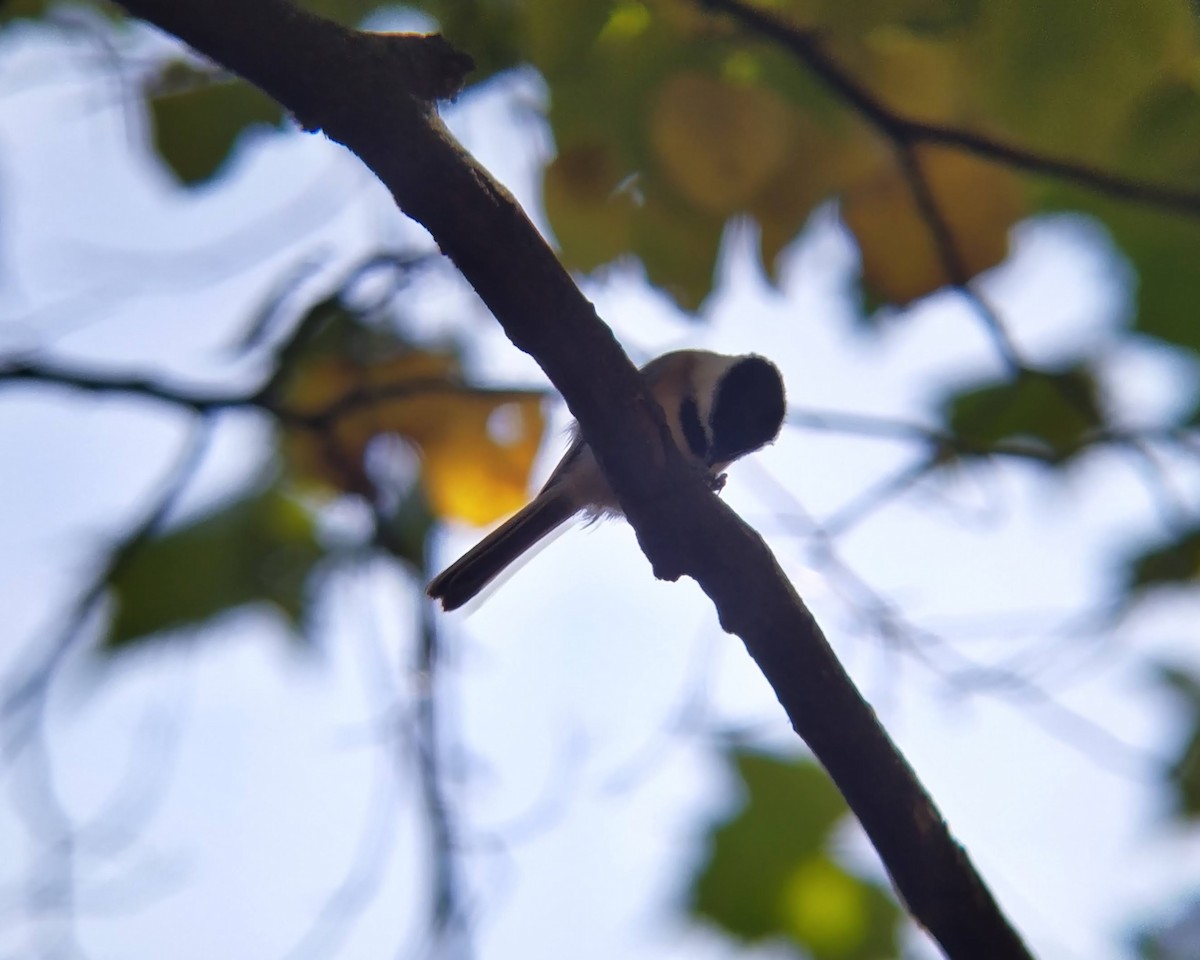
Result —
[{"label": "round brownish-yellow leaf amid the green canopy above the bird", "polygon": [[796,139],[794,110],[778,94],[695,72],[659,88],[649,124],[664,179],[689,203],[721,215],[745,209]]}]

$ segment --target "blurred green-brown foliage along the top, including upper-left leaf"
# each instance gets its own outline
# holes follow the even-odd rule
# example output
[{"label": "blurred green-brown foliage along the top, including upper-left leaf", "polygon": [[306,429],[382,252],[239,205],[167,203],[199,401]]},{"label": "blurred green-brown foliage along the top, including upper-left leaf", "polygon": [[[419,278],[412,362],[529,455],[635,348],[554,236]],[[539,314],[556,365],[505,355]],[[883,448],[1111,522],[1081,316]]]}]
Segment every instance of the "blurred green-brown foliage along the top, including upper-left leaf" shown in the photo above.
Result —
[{"label": "blurred green-brown foliage along the top, including upper-left leaf", "polygon": [[[344,23],[366,0],[308,0]],[[8,5],[35,16],[41,4]],[[724,224],[757,222],[774,270],[820,204],[840,200],[871,302],[905,304],[1007,254],[1038,212],[1075,210],[1114,235],[1142,283],[1136,329],[1195,349],[1200,299],[1189,269],[1193,215],[1118,202],[1079,179],[1046,179],[961,148],[898,143],[822,70],[690,0],[426,0],[416,6],[474,58],[476,80],[528,62],[550,88],[558,156],[546,208],[568,264],[628,254],[686,307],[712,289]],[[762,4],[815,41],[828,67],[872,108],[1086,169],[1160,186],[1200,176],[1200,61],[1187,0],[787,0]],[[186,83],[184,82],[186,80]],[[169,92],[164,92],[169,91]],[[238,80],[178,62],[148,86],[155,148],[186,184],[211,178],[238,136],[278,122]],[[944,221],[964,276],[947,270],[904,150]]]}]

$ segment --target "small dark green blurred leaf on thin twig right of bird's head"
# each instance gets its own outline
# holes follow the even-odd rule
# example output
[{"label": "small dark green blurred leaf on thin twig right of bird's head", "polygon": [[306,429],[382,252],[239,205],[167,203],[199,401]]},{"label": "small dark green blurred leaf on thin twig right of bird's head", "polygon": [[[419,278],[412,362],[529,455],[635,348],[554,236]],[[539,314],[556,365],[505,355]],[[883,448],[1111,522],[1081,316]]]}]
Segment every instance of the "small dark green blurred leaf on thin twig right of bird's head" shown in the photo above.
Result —
[{"label": "small dark green blurred leaf on thin twig right of bird's head", "polygon": [[968,388],[944,402],[947,424],[971,449],[985,454],[1000,443],[1032,442],[1064,463],[1104,425],[1091,370],[1022,370],[1014,379]]}]

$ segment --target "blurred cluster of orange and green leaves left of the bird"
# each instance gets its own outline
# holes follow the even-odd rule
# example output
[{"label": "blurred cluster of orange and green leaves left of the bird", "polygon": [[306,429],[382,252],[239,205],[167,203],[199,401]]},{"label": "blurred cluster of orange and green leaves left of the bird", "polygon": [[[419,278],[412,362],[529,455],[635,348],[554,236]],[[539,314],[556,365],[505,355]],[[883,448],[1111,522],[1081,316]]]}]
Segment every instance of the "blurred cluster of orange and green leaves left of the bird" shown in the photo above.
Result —
[{"label": "blurred cluster of orange and green leaves left of the bird", "polygon": [[372,323],[350,293],[385,263],[397,266],[372,259],[310,307],[280,350],[277,377],[245,400],[281,421],[280,478],[132,544],[108,571],[115,612],[107,649],[203,626],[254,602],[272,606],[302,635],[316,575],[346,559],[317,538],[317,510],[347,493],[377,502],[367,458],[384,437],[410,444],[419,468],[409,492],[379,512],[377,539],[421,575],[434,517],[484,524],[524,502],[545,428],[541,394],[472,386],[454,350],[418,347]]}]

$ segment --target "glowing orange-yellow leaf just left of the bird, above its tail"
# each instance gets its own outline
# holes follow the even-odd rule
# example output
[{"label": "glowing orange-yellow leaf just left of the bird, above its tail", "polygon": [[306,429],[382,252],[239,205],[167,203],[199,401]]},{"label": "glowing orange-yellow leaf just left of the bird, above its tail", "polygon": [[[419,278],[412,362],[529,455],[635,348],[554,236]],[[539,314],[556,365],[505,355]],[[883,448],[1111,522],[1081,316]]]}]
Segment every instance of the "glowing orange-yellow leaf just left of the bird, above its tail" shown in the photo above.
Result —
[{"label": "glowing orange-yellow leaf just left of the bird, above its tail", "polygon": [[373,492],[364,457],[382,436],[413,444],[433,512],[490,523],[520,508],[541,444],[541,395],[466,385],[452,354],[409,350],[367,364],[318,356],[283,397],[307,418],[284,451],[300,476],[337,491]]}]

